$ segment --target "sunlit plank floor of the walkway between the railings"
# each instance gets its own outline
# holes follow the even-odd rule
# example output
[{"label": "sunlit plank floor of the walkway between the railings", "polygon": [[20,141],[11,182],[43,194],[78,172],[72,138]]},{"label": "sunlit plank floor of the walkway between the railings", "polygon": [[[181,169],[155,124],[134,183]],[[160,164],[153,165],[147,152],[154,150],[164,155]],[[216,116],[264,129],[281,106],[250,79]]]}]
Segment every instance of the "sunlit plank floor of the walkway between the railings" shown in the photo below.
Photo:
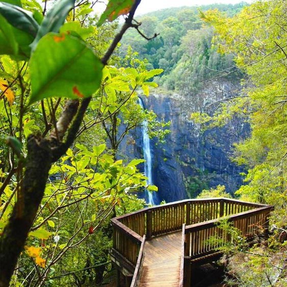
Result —
[{"label": "sunlit plank floor of the walkway between the railings", "polygon": [[141,287],[173,287],[179,285],[181,231],[168,233],[144,247]]}]

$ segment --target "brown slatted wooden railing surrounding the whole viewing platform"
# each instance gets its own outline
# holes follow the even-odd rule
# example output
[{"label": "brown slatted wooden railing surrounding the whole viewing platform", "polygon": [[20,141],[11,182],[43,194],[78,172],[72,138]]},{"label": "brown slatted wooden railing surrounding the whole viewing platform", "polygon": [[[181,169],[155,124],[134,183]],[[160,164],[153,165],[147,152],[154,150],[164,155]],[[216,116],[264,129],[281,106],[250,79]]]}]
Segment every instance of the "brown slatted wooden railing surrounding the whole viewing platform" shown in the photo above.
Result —
[{"label": "brown slatted wooden railing surrounding the whole viewing platform", "polygon": [[[112,219],[113,248],[136,269],[143,236],[146,240],[185,227],[185,256],[196,258],[214,252],[219,242],[230,240],[218,227],[220,218],[228,217],[242,234],[253,234],[256,225],[267,227],[272,206],[234,199],[188,199],[143,208]],[[216,244],[208,241],[214,237]],[[142,260],[142,259],[140,259]],[[141,262],[141,261],[140,261]],[[140,268],[140,267],[139,267]]]}]

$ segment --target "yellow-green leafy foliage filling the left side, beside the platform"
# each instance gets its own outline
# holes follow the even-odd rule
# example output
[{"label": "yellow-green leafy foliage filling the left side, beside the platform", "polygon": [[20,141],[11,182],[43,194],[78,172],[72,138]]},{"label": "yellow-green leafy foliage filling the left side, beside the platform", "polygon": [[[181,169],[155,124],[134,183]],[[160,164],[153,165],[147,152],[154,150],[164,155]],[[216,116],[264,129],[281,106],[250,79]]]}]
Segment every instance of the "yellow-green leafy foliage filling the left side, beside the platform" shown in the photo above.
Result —
[{"label": "yellow-green leafy foliage filling the left side, beside the platform", "polygon": [[162,70],[106,65],[117,24],[105,19],[138,2],[111,0],[100,20],[90,2],[61,0],[47,14],[47,2],[12,4],[0,5],[0,285],[17,260],[12,285],[101,284],[110,218],[144,206],[143,160],[118,160],[118,145],[143,120],[151,135],[167,133],[137,95]]}]

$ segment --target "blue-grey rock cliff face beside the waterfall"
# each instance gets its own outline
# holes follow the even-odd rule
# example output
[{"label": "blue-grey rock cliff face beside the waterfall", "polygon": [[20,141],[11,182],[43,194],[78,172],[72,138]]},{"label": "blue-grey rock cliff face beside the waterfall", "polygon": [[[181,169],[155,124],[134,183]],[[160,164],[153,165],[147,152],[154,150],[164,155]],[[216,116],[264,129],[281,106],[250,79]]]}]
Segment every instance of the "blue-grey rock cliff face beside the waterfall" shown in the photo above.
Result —
[{"label": "blue-grey rock cliff face beside the waterfall", "polygon": [[[191,113],[203,111],[211,103],[230,97],[240,86],[230,82],[206,85],[196,96],[153,94],[143,97],[146,109],[153,110],[159,119],[171,121],[165,144],[151,141],[153,184],[158,186],[159,200],[167,202],[196,197],[202,189],[224,185],[233,193],[242,184],[240,172],[229,159],[232,144],[244,139],[248,124],[233,120],[222,128],[202,132],[190,119]],[[213,105],[212,107],[216,107]],[[142,158],[142,138],[138,129],[136,144],[129,153]]]}]

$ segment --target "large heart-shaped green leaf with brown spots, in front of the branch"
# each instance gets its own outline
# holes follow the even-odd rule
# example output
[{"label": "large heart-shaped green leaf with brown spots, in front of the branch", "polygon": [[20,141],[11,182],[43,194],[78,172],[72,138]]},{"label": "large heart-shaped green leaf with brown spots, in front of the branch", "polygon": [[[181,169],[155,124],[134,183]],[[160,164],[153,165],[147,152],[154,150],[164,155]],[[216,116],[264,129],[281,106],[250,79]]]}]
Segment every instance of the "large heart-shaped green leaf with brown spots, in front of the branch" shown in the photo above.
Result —
[{"label": "large heart-shaped green leaf with brown spots, in front of the branch", "polygon": [[89,97],[100,86],[102,67],[93,50],[79,38],[49,33],[31,57],[30,103],[48,97]]}]

